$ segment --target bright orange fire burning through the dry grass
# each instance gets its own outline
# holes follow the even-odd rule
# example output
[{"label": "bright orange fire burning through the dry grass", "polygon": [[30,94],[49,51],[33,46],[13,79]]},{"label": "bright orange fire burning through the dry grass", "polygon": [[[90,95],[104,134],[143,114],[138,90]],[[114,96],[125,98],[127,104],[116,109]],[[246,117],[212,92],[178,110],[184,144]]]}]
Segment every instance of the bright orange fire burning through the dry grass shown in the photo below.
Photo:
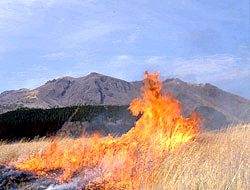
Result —
[{"label": "bright orange fire burning through the dry grass", "polygon": [[86,189],[143,188],[150,171],[167,154],[175,151],[199,133],[199,118],[184,118],[182,108],[170,92],[161,92],[158,73],[145,73],[142,95],[129,109],[141,114],[128,133],[80,138],[68,149],[55,140],[45,152],[16,163],[17,169],[57,177],[67,183],[77,177]]}]

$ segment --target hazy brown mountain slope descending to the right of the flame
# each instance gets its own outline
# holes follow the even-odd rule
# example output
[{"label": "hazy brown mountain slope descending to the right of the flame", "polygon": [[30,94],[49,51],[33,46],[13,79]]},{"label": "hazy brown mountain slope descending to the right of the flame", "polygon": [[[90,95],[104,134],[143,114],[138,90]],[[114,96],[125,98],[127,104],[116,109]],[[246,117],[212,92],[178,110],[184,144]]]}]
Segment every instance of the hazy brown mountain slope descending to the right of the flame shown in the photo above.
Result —
[{"label": "hazy brown mountain slope descending to the right of the flame", "polygon": [[250,122],[250,100],[225,92],[211,84],[191,84],[179,79],[165,80],[184,111],[199,112],[210,129],[230,123]]}]

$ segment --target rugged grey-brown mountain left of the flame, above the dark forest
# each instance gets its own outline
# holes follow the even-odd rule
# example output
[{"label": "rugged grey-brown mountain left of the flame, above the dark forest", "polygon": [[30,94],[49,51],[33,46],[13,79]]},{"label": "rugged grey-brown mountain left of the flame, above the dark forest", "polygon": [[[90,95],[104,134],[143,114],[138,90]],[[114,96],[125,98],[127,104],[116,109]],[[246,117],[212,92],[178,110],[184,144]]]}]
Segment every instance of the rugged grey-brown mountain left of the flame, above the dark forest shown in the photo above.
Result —
[{"label": "rugged grey-brown mountain left of the flame, above the dark forest", "polygon": [[91,73],[81,78],[62,77],[34,90],[0,94],[0,112],[20,107],[51,108],[85,104],[128,105],[140,93],[141,83]]}]

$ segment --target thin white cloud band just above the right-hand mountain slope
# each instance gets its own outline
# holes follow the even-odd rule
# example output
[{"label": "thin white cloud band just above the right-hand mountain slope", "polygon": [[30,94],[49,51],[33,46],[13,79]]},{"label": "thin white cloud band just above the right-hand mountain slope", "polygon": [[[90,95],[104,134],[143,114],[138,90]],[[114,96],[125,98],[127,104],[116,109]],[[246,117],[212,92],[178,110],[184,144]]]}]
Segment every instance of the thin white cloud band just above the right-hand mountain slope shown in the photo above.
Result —
[{"label": "thin white cloud band just above the right-hand mountain slope", "polygon": [[177,58],[172,64],[174,75],[193,77],[204,82],[243,78],[250,74],[245,59],[228,54],[197,56],[191,59]]}]

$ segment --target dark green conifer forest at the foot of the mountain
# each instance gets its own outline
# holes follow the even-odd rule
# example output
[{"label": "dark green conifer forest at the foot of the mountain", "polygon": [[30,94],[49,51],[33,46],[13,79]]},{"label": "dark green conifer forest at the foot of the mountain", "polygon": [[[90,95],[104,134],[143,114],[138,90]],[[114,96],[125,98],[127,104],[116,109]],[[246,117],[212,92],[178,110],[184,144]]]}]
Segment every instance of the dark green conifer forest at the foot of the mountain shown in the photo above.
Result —
[{"label": "dark green conifer forest at the foot of the mountain", "polygon": [[125,117],[134,120],[128,106],[114,105],[84,105],[52,109],[21,108],[0,115],[0,139],[19,140],[23,137],[33,139],[36,136],[53,136],[76,114],[71,121],[87,121],[94,119],[119,120]]}]

